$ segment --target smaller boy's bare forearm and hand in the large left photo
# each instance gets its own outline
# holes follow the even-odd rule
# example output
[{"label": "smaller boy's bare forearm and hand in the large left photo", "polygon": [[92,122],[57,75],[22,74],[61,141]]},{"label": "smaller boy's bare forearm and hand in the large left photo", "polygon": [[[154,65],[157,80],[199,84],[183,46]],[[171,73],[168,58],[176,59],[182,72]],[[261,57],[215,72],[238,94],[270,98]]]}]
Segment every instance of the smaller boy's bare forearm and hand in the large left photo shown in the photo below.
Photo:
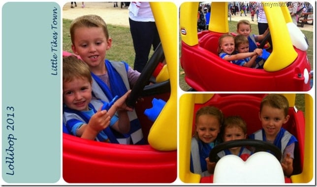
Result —
[{"label": "smaller boy's bare forearm and hand in the large left photo", "polygon": [[110,116],[105,110],[99,110],[89,120],[88,124],[83,124],[77,131],[76,135],[85,139],[94,140],[97,134],[108,127]]}]

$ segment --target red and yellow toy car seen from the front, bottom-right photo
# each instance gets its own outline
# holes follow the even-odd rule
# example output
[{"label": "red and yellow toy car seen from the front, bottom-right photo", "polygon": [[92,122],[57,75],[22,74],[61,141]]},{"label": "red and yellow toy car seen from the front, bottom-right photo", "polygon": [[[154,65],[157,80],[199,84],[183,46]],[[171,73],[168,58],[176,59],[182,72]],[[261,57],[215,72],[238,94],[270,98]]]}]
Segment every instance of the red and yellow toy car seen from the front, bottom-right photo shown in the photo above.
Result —
[{"label": "red and yellow toy car seen from the front, bottom-right photo", "polygon": [[[184,94],[180,98],[180,146],[179,146],[179,175],[180,179],[184,183],[213,183],[215,180],[216,169],[218,167],[219,161],[215,168],[214,175],[210,175],[208,177],[201,177],[199,174],[195,174],[190,172],[190,141],[193,135],[194,130],[194,121],[195,121],[195,113],[200,107],[204,106],[215,106],[222,110],[224,116],[230,115],[239,115],[241,116],[247,123],[248,134],[252,134],[255,131],[261,129],[261,123],[258,119],[258,112],[261,99],[266,94]],[[294,171],[290,177],[285,177],[282,173],[283,183],[309,183],[313,179],[313,167],[314,167],[314,154],[313,154],[313,146],[314,146],[314,128],[313,128],[313,99],[309,94],[305,94],[305,114],[297,110],[295,107],[295,94],[284,94],[285,97],[289,101],[289,112],[290,118],[283,127],[293,134],[297,140],[298,144],[295,146],[295,158],[293,166]],[[266,152],[258,152],[258,153],[266,153]],[[233,156],[233,155],[231,155]],[[258,156],[258,155],[257,155]],[[235,156],[236,158],[239,158]],[[263,156],[262,156],[263,157]],[[210,157],[211,158],[211,157]],[[251,157],[250,157],[251,158]],[[267,158],[264,156],[263,158]],[[277,159],[271,160],[276,162]],[[305,159],[304,159],[305,158]],[[248,160],[247,160],[248,161]],[[263,160],[262,160],[263,161]],[[260,161],[261,162],[261,161]],[[278,161],[277,167],[282,168]],[[272,166],[270,161],[265,162],[266,165]],[[267,184],[269,181],[267,176],[271,176],[271,169],[263,169],[262,167],[249,168],[249,169],[238,169],[239,172],[233,173],[229,177],[229,172],[234,170],[233,165],[220,165],[218,168],[217,175],[227,175],[226,182],[232,183],[235,182],[235,185],[238,184],[241,180],[241,172],[245,173],[245,181],[243,183],[250,183],[253,177],[257,178],[257,181],[253,181],[254,184]],[[230,168],[230,169],[228,169]],[[236,170],[235,170],[236,171]],[[249,173],[248,173],[249,172]],[[253,175],[253,174],[257,175]],[[217,176],[217,178],[218,178]],[[253,177],[252,177],[253,176]],[[263,181],[265,180],[265,181]],[[280,181],[281,182],[281,181]]]}]

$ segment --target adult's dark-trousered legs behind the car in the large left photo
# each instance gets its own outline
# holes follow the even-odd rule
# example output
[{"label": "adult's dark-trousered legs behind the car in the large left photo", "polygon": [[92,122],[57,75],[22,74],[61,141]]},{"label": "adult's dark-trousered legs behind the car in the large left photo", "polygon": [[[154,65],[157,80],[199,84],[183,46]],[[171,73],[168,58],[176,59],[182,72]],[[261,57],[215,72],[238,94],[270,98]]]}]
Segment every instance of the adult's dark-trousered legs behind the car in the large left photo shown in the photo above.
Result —
[{"label": "adult's dark-trousered legs behind the car in the large left photo", "polygon": [[148,62],[151,47],[155,50],[160,42],[155,22],[135,22],[129,19],[135,52],[133,69],[142,72]]}]

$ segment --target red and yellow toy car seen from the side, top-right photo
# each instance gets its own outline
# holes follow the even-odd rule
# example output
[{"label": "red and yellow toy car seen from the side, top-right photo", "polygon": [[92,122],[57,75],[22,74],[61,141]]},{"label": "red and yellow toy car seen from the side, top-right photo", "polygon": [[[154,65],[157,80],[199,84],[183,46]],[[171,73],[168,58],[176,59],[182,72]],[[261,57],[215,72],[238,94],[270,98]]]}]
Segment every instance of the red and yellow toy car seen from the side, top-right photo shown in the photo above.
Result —
[{"label": "red and yellow toy car seen from the side, top-right photo", "polygon": [[[258,2],[260,3],[260,2]],[[219,57],[219,38],[228,30],[228,2],[211,2],[209,30],[197,32],[199,2],[180,7],[181,67],[185,81],[195,91],[308,91],[311,65],[308,43],[292,23],[286,6],[263,2],[273,50],[264,69],[228,63]],[[273,2],[274,3],[274,2]]]}]

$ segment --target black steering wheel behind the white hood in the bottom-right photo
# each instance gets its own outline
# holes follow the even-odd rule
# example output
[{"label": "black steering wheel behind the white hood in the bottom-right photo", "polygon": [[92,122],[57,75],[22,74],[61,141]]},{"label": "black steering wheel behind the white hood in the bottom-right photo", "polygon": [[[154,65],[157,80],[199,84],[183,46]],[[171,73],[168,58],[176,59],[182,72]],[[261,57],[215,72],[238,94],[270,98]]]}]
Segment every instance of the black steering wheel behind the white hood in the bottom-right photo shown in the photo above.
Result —
[{"label": "black steering wheel behind the white hood in the bottom-right photo", "polygon": [[255,148],[254,152],[270,151],[279,161],[282,159],[281,150],[272,143],[268,143],[268,142],[256,140],[256,139],[239,139],[239,140],[226,141],[216,145],[209,153],[209,160],[211,162],[217,162],[218,160],[220,160],[217,153],[221,152],[224,149],[229,149],[232,147],[241,147],[241,146],[254,147]]}]

